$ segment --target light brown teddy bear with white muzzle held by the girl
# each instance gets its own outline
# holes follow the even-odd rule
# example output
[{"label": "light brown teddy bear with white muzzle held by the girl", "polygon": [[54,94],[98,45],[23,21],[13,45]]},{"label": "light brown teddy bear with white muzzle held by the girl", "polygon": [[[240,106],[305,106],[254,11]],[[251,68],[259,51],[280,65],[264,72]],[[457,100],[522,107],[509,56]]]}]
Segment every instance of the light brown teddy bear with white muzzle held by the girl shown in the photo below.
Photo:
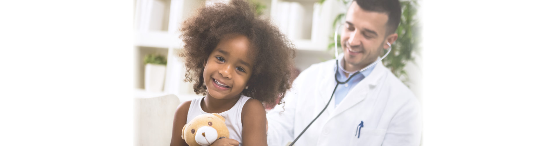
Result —
[{"label": "light brown teddy bear with white muzzle held by the girl", "polygon": [[215,113],[196,116],[182,128],[182,139],[190,146],[210,145],[220,138],[229,138],[229,129],[225,118]]}]

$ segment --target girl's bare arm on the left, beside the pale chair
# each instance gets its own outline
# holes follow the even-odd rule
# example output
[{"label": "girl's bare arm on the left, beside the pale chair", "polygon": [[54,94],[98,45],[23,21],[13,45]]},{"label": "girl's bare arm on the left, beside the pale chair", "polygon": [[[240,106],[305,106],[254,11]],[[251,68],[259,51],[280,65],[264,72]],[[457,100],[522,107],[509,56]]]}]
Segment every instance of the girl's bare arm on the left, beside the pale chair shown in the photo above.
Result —
[{"label": "girl's bare arm on the left, beside the pale chair", "polygon": [[178,106],[175,112],[175,119],[172,122],[172,138],[171,146],[176,145],[188,145],[186,141],[182,139],[182,128],[186,125],[186,119],[188,117],[188,110],[190,109],[190,103],[192,101],[186,101]]}]

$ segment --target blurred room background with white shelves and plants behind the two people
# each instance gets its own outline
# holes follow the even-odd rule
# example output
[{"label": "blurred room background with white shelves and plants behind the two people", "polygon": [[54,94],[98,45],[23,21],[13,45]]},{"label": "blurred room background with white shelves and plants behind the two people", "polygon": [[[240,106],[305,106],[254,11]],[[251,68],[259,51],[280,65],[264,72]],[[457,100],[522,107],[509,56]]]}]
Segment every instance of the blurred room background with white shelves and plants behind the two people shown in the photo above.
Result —
[{"label": "blurred room background with white shelves and plants behind the two people", "polygon": [[[335,26],[342,25],[349,0],[247,0],[256,15],[269,18],[296,47],[296,71],[334,58]],[[134,96],[139,145],[168,145],[179,103],[201,97],[184,82],[178,52],[181,23],[203,4],[227,0],[134,1]],[[417,1],[401,1],[398,39],[383,64],[421,98],[420,23]],[[341,34],[341,33],[339,33]],[[339,37],[339,36],[338,36]],[[338,39],[340,41],[340,39]],[[341,43],[338,43],[342,51]],[[297,73],[296,73],[297,74]],[[176,100],[176,98],[178,100]]]}]

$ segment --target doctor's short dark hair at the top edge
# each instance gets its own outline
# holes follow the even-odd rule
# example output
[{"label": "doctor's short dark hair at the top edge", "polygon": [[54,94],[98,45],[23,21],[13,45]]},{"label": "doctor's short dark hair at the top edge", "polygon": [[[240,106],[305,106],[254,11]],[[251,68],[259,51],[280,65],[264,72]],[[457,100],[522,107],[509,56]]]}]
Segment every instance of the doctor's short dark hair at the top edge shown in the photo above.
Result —
[{"label": "doctor's short dark hair at the top edge", "polygon": [[386,13],[388,16],[386,36],[395,33],[401,21],[401,4],[398,0],[354,0],[366,11]]}]

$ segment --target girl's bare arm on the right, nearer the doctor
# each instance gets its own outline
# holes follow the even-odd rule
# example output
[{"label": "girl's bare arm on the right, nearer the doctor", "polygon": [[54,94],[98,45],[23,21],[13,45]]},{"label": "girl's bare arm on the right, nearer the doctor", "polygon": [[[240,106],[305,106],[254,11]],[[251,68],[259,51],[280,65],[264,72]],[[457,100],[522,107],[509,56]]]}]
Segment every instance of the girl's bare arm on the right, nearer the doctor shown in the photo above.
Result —
[{"label": "girl's bare arm on the right, nearer the doctor", "polygon": [[242,145],[267,145],[266,110],[262,102],[249,99],[242,108]]}]

